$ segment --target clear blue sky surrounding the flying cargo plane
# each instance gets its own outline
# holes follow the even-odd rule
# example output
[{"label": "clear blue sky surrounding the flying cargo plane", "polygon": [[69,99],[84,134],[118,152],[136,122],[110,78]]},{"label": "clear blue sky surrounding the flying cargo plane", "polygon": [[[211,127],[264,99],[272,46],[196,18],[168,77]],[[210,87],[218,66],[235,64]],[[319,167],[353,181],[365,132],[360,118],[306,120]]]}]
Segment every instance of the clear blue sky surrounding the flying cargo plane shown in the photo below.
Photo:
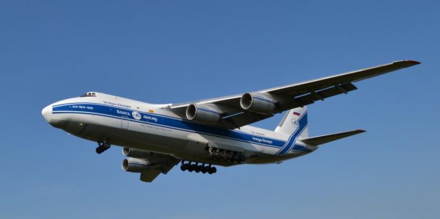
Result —
[{"label": "clear blue sky surrounding the flying cargo plane", "polygon": [[[0,218],[438,218],[438,2],[1,1]],[[368,132],[211,176],[142,183],[41,116],[85,91],[184,102],[402,59],[422,65],[309,106],[310,135]]]}]

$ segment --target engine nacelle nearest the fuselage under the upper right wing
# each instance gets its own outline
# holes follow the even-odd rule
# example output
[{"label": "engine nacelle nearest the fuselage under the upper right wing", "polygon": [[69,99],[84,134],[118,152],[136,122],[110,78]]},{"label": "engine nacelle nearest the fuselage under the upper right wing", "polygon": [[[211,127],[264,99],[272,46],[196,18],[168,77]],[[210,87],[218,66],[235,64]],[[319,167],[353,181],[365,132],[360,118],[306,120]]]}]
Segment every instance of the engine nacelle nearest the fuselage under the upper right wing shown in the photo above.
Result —
[{"label": "engine nacelle nearest the fuselage under the upper right wing", "polygon": [[220,120],[220,113],[212,104],[190,104],[186,108],[186,118],[201,123],[216,124]]}]

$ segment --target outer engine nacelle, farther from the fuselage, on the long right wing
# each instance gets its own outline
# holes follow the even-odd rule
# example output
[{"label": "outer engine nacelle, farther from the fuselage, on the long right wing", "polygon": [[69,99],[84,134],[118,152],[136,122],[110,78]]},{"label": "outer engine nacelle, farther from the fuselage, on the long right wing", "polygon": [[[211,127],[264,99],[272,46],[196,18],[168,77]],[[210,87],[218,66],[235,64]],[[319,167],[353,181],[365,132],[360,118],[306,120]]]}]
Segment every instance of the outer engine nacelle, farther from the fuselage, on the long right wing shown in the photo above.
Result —
[{"label": "outer engine nacelle, farther from the fuselage, on the long right wing", "polygon": [[245,93],[241,96],[241,108],[254,113],[272,113],[276,100],[263,93]]}]

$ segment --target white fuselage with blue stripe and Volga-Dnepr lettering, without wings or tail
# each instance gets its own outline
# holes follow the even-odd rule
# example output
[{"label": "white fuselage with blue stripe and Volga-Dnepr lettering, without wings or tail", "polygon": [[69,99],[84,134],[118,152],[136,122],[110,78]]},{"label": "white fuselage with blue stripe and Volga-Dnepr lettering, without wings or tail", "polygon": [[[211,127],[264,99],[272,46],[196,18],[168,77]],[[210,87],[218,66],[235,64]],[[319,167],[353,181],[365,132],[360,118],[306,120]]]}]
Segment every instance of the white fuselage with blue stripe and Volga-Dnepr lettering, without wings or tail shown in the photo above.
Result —
[{"label": "white fuselage with blue stripe and Volga-Dnepr lettering, without wings or tail", "polygon": [[241,152],[246,157],[243,163],[274,163],[316,150],[298,139],[288,152],[280,155],[277,152],[289,139],[282,132],[252,126],[231,130],[200,124],[175,115],[167,104],[96,94],[50,104],[43,109],[43,116],[52,126],[84,139],[107,139],[112,145],[214,165],[233,164],[210,159],[208,147]]}]

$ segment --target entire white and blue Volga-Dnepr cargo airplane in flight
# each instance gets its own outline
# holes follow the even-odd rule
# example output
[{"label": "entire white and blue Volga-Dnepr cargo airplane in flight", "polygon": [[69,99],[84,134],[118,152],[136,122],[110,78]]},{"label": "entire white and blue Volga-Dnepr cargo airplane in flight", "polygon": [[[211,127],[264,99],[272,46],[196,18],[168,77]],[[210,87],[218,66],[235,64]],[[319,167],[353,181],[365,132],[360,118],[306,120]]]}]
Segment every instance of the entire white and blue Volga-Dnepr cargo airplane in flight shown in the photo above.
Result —
[{"label": "entire white and blue Volga-Dnepr cargo airplane in flight", "polygon": [[[353,82],[420,62],[399,60],[335,76],[239,95],[180,104],[148,104],[87,92],[50,104],[45,120],[77,137],[96,141],[101,154],[122,146],[122,169],[153,181],[181,163],[182,171],[214,174],[214,165],[281,163],[314,152],[324,143],[357,135],[350,130],[308,136],[307,106],[357,89]],[[285,113],[275,130],[249,126]]]}]

